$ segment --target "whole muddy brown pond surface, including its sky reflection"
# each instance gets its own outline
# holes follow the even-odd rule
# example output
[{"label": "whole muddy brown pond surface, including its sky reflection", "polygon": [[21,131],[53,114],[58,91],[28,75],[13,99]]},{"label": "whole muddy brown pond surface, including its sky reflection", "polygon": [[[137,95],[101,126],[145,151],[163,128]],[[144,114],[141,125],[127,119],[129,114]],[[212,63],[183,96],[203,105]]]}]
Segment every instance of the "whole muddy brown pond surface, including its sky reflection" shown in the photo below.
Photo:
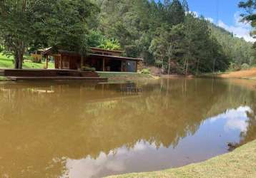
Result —
[{"label": "whole muddy brown pond surface, including its sky reflection", "polygon": [[[256,139],[255,85],[0,83],[0,177],[104,177],[224,154],[227,142]],[[120,92],[127,86],[142,92]]]}]

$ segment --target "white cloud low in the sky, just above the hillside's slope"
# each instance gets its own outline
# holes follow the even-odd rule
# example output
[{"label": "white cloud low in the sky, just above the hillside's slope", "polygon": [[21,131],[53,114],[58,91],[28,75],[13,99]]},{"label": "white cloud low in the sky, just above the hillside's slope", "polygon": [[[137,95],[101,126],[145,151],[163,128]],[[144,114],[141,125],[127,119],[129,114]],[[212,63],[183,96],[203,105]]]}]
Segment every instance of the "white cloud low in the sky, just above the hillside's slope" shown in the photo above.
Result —
[{"label": "white cloud low in the sky, just above the hillside's slope", "polygon": [[235,13],[234,15],[235,25],[228,26],[223,21],[219,20],[217,26],[225,28],[225,30],[234,33],[235,36],[239,38],[244,38],[245,41],[255,42],[256,39],[250,36],[251,26],[249,23],[241,22],[240,12]]}]

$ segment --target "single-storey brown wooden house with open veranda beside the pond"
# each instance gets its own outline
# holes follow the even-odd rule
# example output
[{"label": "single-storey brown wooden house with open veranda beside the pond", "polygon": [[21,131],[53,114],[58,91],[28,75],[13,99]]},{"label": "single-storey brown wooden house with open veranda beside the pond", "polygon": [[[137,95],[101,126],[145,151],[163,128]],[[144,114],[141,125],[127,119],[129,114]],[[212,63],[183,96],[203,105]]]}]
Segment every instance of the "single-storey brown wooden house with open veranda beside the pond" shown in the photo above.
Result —
[{"label": "single-storey brown wooden house with open veranda beside the pond", "polygon": [[131,72],[137,73],[140,58],[122,57],[123,51],[112,51],[102,48],[91,48],[88,56],[82,57],[79,53],[58,50],[53,53],[51,48],[42,54],[46,56],[46,67],[48,67],[49,56],[54,58],[56,69],[81,70],[84,66],[95,68],[97,71],[109,72]]}]

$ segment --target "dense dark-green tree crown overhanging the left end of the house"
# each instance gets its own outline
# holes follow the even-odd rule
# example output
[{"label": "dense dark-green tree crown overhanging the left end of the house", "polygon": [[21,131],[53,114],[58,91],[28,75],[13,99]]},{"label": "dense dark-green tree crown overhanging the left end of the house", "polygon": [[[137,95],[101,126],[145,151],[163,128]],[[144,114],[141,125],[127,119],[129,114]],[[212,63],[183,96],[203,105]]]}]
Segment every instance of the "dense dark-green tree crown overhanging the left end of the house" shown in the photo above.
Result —
[{"label": "dense dark-green tree crown overhanging the left end of the house", "polygon": [[36,39],[51,46],[86,56],[89,43],[87,19],[99,9],[89,0],[43,0],[36,4]]}]

